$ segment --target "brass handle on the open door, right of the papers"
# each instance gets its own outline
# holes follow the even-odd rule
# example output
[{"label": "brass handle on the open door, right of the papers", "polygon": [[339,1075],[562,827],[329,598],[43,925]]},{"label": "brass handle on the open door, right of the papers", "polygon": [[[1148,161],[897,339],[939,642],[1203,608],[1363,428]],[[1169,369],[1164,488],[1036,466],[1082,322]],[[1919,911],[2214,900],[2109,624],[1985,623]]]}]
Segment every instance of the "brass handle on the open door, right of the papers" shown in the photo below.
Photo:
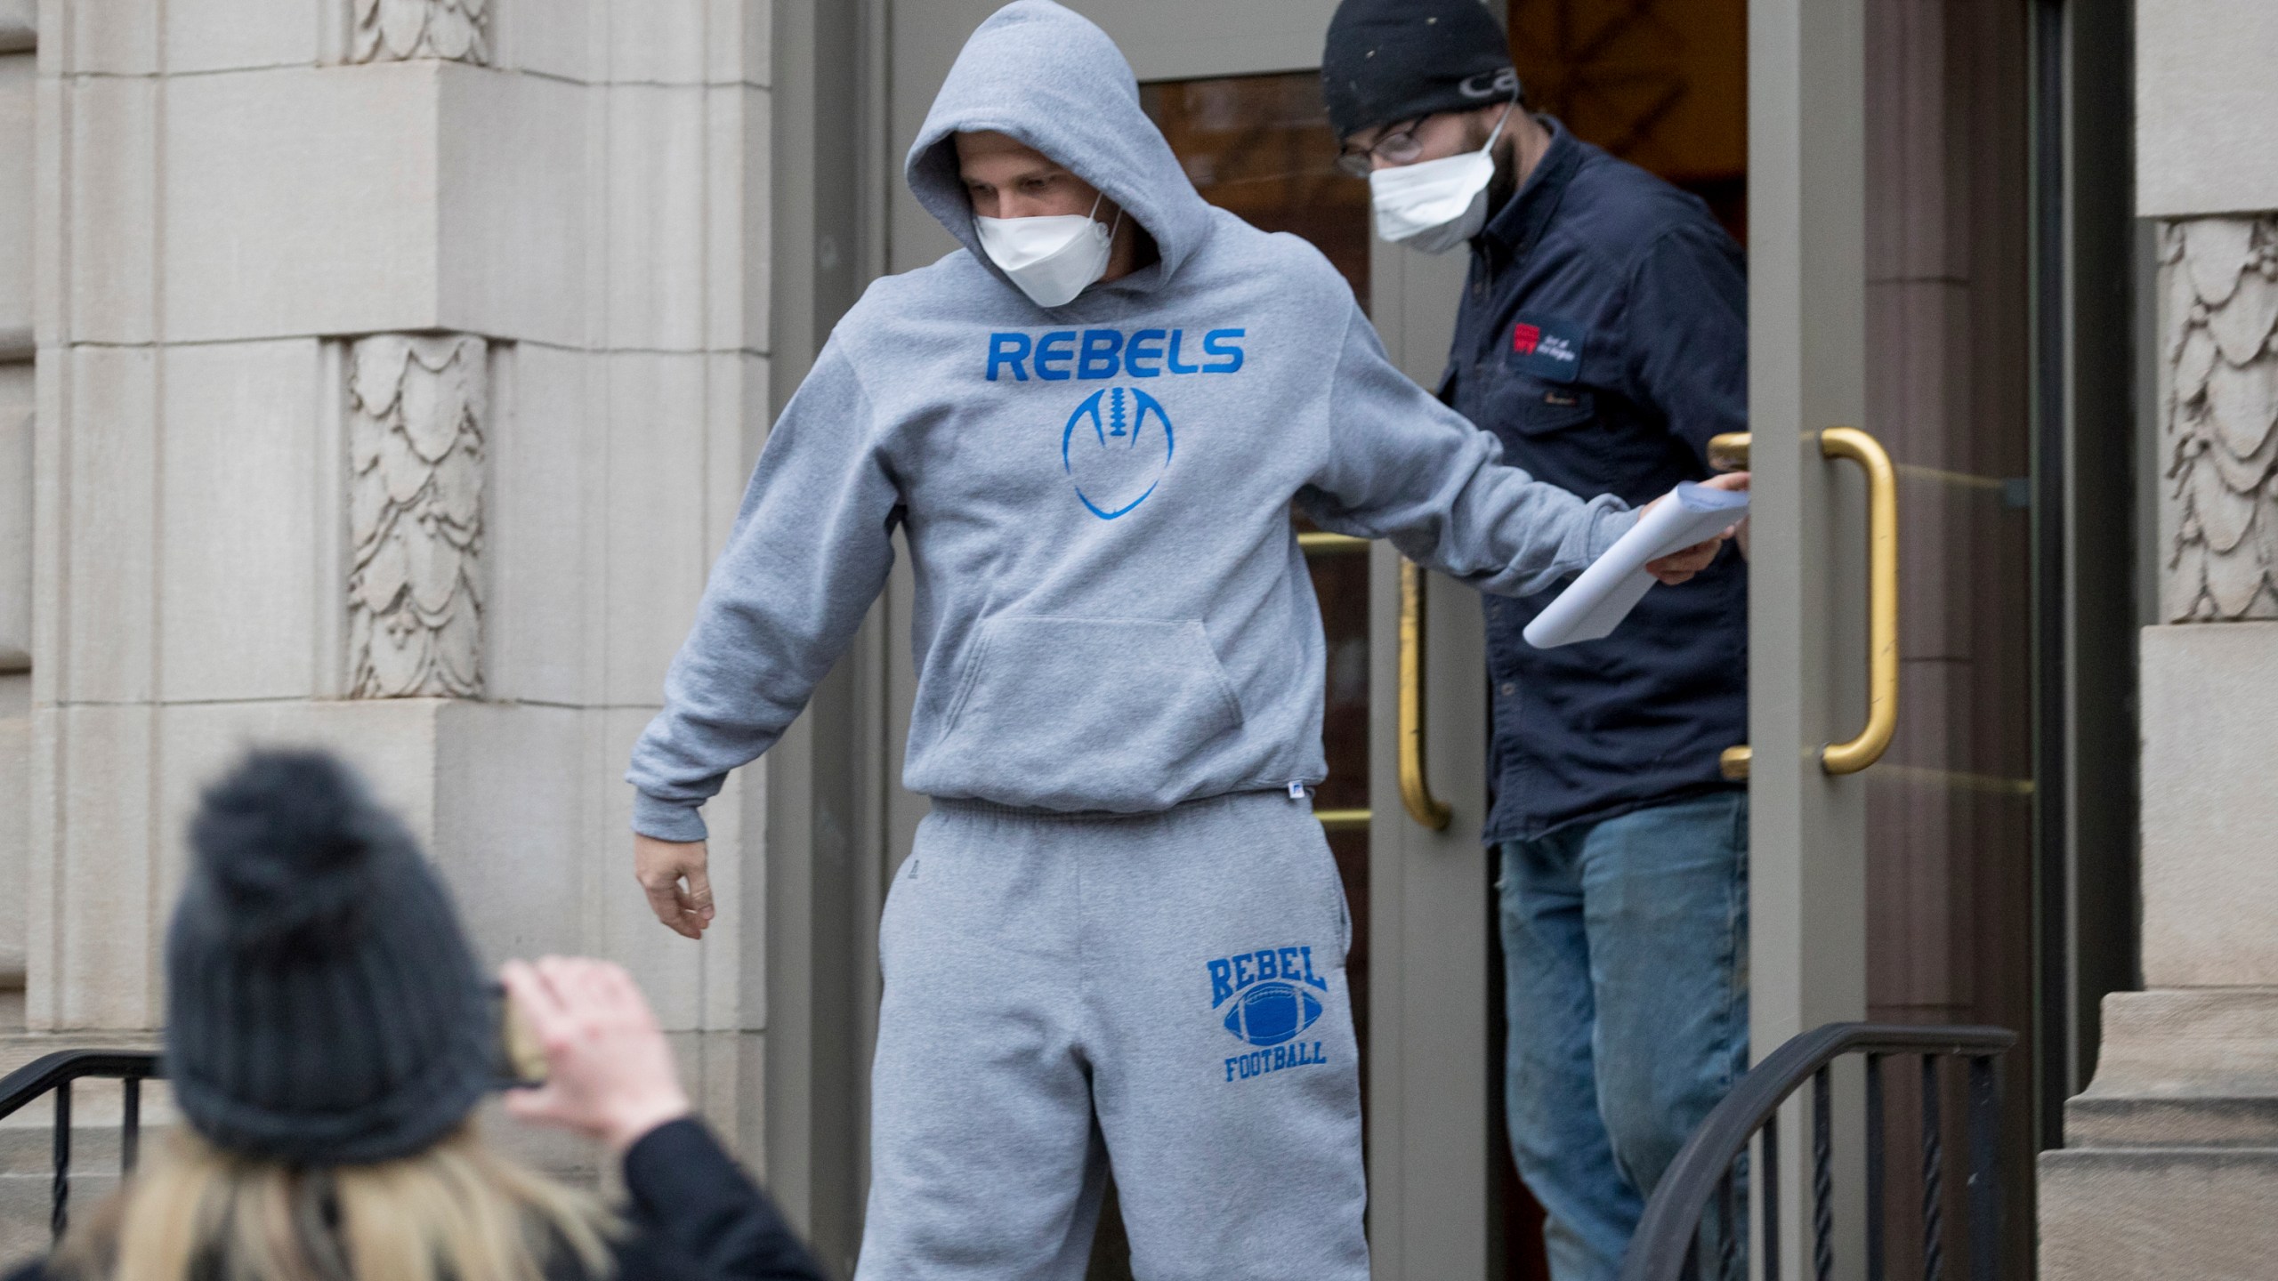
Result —
[{"label": "brass handle on the open door, right of the papers", "polygon": [[[1747,467],[1750,433],[1708,440],[1708,463],[1718,470]],[[1866,727],[1854,739],[1820,748],[1820,768],[1854,775],[1891,748],[1898,732],[1898,470],[1882,442],[1857,426],[1820,433],[1822,458],[1850,458],[1866,472]],[[1724,748],[1727,780],[1745,780],[1752,766],[1747,743]]]}]

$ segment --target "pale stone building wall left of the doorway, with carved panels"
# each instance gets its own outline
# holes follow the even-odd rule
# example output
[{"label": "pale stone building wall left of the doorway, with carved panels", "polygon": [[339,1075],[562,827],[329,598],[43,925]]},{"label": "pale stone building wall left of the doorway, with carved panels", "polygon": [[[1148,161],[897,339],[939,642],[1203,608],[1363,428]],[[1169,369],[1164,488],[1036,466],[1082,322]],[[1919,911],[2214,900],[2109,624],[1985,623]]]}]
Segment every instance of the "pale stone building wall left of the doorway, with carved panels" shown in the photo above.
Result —
[{"label": "pale stone building wall left of the doorway, with carved panels", "polygon": [[768,23],[0,0],[0,1069],[148,1039],[196,789],[328,743],[756,1144],[756,914],[661,930],[617,777],[768,424]]}]

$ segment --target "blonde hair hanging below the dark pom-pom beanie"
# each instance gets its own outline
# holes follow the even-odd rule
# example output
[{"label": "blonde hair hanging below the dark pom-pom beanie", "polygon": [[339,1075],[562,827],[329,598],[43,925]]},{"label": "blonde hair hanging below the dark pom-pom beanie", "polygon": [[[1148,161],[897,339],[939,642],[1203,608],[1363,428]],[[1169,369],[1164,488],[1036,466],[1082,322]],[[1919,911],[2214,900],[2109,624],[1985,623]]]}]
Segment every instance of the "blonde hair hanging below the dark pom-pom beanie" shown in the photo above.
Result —
[{"label": "blonde hair hanging below the dark pom-pom beanie", "polygon": [[55,1254],[75,1281],[544,1281],[556,1251],[611,1276],[617,1219],[460,1126],[376,1165],[294,1167],[187,1126]]}]

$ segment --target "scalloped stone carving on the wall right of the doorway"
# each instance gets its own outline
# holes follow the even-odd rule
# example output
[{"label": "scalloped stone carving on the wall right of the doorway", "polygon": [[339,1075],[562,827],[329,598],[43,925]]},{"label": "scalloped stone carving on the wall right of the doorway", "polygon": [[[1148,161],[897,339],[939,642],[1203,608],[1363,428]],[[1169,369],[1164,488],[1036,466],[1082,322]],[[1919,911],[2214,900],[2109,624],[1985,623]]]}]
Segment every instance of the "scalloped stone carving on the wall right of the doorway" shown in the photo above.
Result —
[{"label": "scalloped stone carving on the wall right of the doorway", "polygon": [[2169,622],[2278,618],[2278,217],[2160,230]]}]

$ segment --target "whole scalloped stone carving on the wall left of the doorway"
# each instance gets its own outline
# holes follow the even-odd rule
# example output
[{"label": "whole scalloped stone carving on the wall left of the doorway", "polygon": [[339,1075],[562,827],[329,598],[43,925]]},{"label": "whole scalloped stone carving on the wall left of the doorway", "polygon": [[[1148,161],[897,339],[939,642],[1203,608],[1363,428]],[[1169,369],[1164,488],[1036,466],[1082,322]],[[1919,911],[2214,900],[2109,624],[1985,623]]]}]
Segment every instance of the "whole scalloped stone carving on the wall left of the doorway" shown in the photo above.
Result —
[{"label": "whole scalloped stone carving on the wall left of the doorway", "polygon": [[349,695],[483,693],[487,344],[349,346]]}]

